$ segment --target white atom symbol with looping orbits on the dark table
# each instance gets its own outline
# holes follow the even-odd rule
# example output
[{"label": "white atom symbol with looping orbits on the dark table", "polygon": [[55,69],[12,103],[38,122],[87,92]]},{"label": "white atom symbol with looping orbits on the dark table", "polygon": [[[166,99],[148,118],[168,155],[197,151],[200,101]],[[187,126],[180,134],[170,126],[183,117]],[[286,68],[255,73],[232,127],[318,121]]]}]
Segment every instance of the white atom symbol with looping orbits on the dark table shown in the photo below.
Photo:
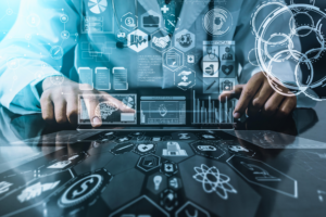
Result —
[{"label": "white atom symbol with looping orbits on the dark table", "polygon": [[228,183],[229,177],[220,174],[218,169],[213,167],[208,167],[206,165],[202,164],[201,167],[195,167],[196,175],[192,178],[196,181],[202,183],[202,188],[206,193],[215,192],[221,199],[227,200],[229,193],[238,193],[234,187]]}]

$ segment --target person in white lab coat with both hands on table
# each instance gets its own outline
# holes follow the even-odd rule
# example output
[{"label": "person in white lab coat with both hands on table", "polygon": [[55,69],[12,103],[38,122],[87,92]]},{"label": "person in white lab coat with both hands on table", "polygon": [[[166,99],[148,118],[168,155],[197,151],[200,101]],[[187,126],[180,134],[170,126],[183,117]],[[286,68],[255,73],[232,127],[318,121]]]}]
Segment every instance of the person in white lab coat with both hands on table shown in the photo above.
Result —
[{"label": "person in white lab coat with both hands on table", "polygon": [[[164,0],[159,0],[161,3]],[[142,14],[151,11],[159,14],[160,27],[164,29],[171,25],[168,17],[164,16],[166,10],[156,0],[110,0],[104,1],[101,9],[101,17],[92,16],[88,0],[57,0],[39,1],[24,0],[21,2],[16,23],[0,43],[0,103],[17,114],[42,113],[42,117],[49,122],[75,124],[78,113],[78,94],[103,93],[110,101],[115,101],[120,110],[129,110],[122,103],[110,97],[111,91],[101,92],[96,89],[80,90],[79,85],[72,79],[73,73],[65,73],[63,84],[53,85],[55,76],[62,78],[66,71],[63,60],[65,55],[74,53],[71,61],[73,68],[88,67],[125,67],[128,71],[130,88],[173,88],[173,73],[163,63],[158,65],[151,75],[151,79],[139,76],[139,60],[143,56],[162,55],[148,46],[147,49],[135,52],[125,41],[121,43],[122,33],[129,34],[129,29],[123,27],[123,17]],[[252,34],[250,20],[255,8],[262,0],[234,0],[226,3],[214,1],[179,1],[176,3],[178,17],[172,23],[176,26],[174,31],[165,33],[172,41],[175,35],[184,29],[196,36],[191,54],[196,56],[196,64],[187,67],[201,72],[204,40],[228,40],[236,43],[236,61],[240,65],[238,84],[233,91],[224,92],[220,100],[224,101],[238,98],[239,102],[234,111],[234,117],[239,118],[247,112],[249,116],[263,115],[278,117],[289,115],[297,106],[312,106],[312,102],[297,97],[284,97],[274,91],[266,77],[260,73],[259,66],[252,65],[248,60],[248,53],[254,48],[255,37]],[[167,7],[174,3],[167,1]],[[222,7],[229,12],[231,24],[226,34],[212,36],[203,27],[203,16],[214,8]],[[171,8],[172,10],[172,8]],[[265,14],[271,11],[266,10]],[[262,13],[264,14],[264,13]],[[163,18],[164,16],[164,18]],[[172,17],[173,18],[173,17]],[[261,18],[264,18],[262,15]],[[101,23],[100,27],[90,30],[91,22]],[[167,22],[167,23],[166,23]],[[175,23],[174,23],[175,22]],[[97,23],[98,24],[98,23]],[[274,26],[275,33],[280,33],[286,24]],[[135,28],[142,29],[140,23]],[[298,43],[298,41],[297,41]],[[185,55],[188,54],[185,52]],[[141,59],[141,60],[142,60]],[[279,68],[279,74],[293,72],[294,66]],[[73,72],[73,71],[72,71]],[[71,76],[71,79],[70,79]],[[200,76],[198,76],[200,77]],[[200,80],[199,80],[200,82]],[[91,88],[90,88],[91,89]],[[88,112],[93,127],[101,126],[101,118],[95,115],[98,101],[88,104]],[[130,111],[127,111],[130,112]]]}]

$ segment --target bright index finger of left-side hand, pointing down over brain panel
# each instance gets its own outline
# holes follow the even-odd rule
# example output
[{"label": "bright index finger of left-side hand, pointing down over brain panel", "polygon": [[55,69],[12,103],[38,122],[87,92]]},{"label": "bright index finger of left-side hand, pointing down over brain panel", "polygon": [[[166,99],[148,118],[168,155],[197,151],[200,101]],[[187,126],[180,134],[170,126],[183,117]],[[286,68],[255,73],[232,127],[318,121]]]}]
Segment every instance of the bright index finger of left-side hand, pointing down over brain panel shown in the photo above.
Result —
[{"label": "bright index finger of left-side hand, pointing down over brain panel", "polygon": [[[99,105],[99,100],[96,95],[83,95],[88,116],[92,127],[102,125],[101,114],[96,114],[96,107]],[[100,111],[99,111],[100,112]]]}]

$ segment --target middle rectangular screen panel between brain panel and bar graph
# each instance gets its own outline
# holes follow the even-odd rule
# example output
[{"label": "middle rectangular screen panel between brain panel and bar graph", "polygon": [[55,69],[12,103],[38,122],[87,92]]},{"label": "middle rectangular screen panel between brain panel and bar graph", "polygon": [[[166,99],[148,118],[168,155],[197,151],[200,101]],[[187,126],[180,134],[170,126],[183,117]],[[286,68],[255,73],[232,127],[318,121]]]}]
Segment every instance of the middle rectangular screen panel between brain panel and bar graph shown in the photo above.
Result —
[{"label": "middle rectangular screen panel between brain panel and bar graph", "polygon": [[185,97],[141,97],[141,125],[186,125]]}]

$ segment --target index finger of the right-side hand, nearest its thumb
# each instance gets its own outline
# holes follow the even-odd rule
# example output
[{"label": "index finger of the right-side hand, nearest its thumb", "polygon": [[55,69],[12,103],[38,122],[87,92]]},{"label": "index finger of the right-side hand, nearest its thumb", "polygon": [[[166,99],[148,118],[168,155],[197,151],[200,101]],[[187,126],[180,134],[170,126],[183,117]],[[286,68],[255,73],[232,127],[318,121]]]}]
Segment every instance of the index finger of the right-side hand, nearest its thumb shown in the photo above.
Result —
[{"label": "index finger of the right-side hand, nearest its thumb", "polygon": [[248,81],[248,84],[243,87],[239,101],[234,111],[234,117],[240,118],[241,115],[246,112],[250,101],[255,95],[259,88],[262,86],[265,76],[262,74],[256,74],[252,76],[252,78]]}]

